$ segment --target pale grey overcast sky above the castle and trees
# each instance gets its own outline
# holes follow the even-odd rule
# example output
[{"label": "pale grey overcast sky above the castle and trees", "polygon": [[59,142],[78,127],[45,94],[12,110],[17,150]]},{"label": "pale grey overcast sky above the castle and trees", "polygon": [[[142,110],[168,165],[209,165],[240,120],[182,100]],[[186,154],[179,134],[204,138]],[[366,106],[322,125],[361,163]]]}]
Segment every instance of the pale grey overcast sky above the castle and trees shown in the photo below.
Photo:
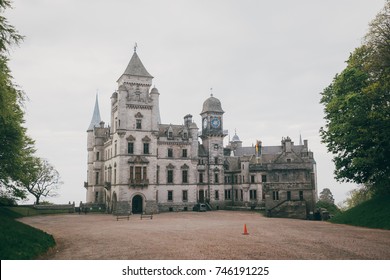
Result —
[{"label": "pale grey overcast sky above the castle and trees", "polygon": [[[15,83],[27,94],[26,126],[38,155],[60,172],[56,203],[85,201],[87,134],[98,92],[109,123],[110,96],[137,42],[160,92],[163,123],[192,114],[213,94],[224,129],[244,146],[309,141],[319,191],[336,202],[355,185],[333,179],[321,144],[320,92],[361,45],[384,0],[14,0],[6,17],[24,42],[10,53]],[[226,142],[228,137],[226,137]]]}]

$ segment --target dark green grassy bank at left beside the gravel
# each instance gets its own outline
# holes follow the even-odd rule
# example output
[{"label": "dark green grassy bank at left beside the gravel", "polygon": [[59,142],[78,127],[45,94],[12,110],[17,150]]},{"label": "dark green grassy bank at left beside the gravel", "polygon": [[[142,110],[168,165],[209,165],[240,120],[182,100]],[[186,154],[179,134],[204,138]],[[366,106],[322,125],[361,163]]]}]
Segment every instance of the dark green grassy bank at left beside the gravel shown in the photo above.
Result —
[{"label": "dark green grassy bank at left beside the gravel", "polygon": [[35,259],[55,245],[52,235],[16,221],[24,215],[11,209],[0,207],[1,260]]}]

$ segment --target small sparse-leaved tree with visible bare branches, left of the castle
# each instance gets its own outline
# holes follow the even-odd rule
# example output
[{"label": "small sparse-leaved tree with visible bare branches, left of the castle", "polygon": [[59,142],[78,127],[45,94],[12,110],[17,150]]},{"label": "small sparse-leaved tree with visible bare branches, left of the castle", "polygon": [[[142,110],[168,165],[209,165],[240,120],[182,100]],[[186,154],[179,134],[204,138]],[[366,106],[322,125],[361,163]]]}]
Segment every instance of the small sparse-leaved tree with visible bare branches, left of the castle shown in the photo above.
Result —
[{"label": "small sparse-leaved tree with visible bare branches, left of the castle", "polygon": [[19,182],[20,188],[25,188],[35,197],[35,204],[40,203],[41,197],[54,197],[62,184],[58,171],[47,160],[34,158],[34,164],[29,165],[29,176],[25,182]]}]

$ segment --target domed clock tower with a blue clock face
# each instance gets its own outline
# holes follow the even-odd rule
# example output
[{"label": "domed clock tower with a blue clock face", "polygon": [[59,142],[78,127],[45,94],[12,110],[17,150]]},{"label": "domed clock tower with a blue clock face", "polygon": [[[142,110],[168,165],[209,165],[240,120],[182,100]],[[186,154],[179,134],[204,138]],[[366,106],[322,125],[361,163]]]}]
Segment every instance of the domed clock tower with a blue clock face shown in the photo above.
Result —
[{"label": "domed clock tower with a blue clock face", "polygon": [[202,117],[202,146],[207,154],[207,201],[215,200],[215,193],[223,193],[223,114],[221,101],[211,95],[203,103],[200,113]]}]

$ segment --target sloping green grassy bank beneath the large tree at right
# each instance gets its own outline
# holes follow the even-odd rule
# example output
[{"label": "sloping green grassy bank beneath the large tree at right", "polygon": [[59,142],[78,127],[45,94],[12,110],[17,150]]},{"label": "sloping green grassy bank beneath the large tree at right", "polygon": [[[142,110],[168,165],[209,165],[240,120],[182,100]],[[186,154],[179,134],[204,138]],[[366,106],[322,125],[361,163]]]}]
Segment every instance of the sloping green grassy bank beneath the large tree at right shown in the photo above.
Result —
[{"label": "sloping green grassy bank beneath the large tree at right", "polygon": [[370,199],[336,215],[330,221],[337,224],[390,230],[390,196]]}]

